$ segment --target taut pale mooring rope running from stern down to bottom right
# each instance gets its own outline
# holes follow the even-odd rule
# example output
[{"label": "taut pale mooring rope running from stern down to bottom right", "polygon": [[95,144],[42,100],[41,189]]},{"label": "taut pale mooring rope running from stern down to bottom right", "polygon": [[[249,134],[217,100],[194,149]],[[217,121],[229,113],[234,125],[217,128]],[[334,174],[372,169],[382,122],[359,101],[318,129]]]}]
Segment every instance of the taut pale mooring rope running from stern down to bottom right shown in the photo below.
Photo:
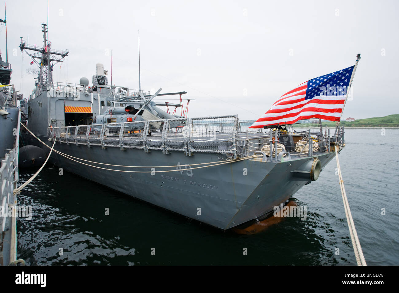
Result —
[{"label": "taut pale mooring rope running from stern down to bottom right", "polygon": [[335,143],[335,157],[337,159],[338,176],[340,179],[340,187],[342,193],[342,201],[344,201],[344,208],[346,214],[346,220],[348,221],[348,228],[350,233],[350,238],[352,239],[352,246],[355,252],[356,262],[358,265],[367,265],[363,256],[363,251],[361,250],[358,233],[356,233],[355,224],[353,222],[352,214],[350,212],[348,198],[346,197],[344,180],[342,179],[340,161],[338,160],[338,143]]}]

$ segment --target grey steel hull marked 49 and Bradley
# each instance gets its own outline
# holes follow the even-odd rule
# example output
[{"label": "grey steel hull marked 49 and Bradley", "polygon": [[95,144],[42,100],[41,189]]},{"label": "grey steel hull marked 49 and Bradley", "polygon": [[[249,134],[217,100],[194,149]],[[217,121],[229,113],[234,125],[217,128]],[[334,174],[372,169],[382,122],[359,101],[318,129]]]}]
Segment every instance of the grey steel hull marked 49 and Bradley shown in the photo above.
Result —
[{"label": "grey steel hull marked 49 and Bradley", "polygon": [[[40,139],[52,146],[53,142],[48,141],[47,137],[40,136]],[[64,171],[223,230],[271,212],[274,206],[284,203],[302,186],[311,182],[309,178],[294,177],[292,170],[300,168],[306,161],[313,161],[315,157],[320,159],[323,168],[335,156],[334,152],[329,152],[279,163],[247,159],[190,171],[185,170],[184,165],[198,167],[194,164],[223,161],[218,159],[217,154],[212,153],[186,156],[183,152],[172,152],[165,155],[161,151],[144,153],[142,149],[122,151],[117,147],[103,149],[101,146],[87,147],[60,142],[56,142],[54,148],[73,157],[106,164],[135,166],[180,164],[182,171],[151,175],[97,169],[55,153],[51,157],[51,160]],[[47,153],[48,151],[47,148]],[[111,168],[106,165],[97,166]],[[244,175],[245,168],[247,175]],[[176,167],[162,168],[165,169],[176,169]],[[143,171],[143,169],[124,167],[120,170]],[[156,171],[160,170],[156,168]]]}]

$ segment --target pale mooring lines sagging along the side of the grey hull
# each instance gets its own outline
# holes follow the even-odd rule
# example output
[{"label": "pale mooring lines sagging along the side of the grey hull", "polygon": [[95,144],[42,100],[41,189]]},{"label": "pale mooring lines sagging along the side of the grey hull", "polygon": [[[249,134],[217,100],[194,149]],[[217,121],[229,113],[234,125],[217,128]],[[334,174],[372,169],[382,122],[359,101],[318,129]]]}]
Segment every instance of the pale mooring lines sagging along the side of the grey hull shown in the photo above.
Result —
[{"label": "pale mooring lines sagging along the side of the grey hull", "polygon": [[[21,124],[22,124],[22,123],[21,123]],[[50,147],[47,146],[47,144],[45,144],[40,138],[38,138],[38,137],[37,137],[35,134],[33,134],[28,128],[26,128],[26,126],[25,126],[24,124],[22,124],[22,126],[24,126],[24,128],[25,128],[26,130],[28,130],[28,132],[29,132],[30,134],[32,134],[32,136],[34,136],[38,141],[40,141],[40,142],[41,142],[42,144],[44,144],[46,147],[50,148]],[[56,140],[54,140],[54,144],[55,144],[55,141],[56,141]],[[53,147],[54,147],[54,144],[53,144]],[[81,161],[87,161],[87,162],[94,163],[94,164],[110,165],[110,166],[114,166],[114,167],[133,167],[133,168],[182,167],[182,165],[174,165],[174,166],[125,166],[125,165],[112,165],[112,164],[99,163],[99,162],[88,161],[88,160],[85,160],[85,159],[73,157],[73,156],[71,156],[71,155],[67,155],[67,154],[62,153],[62,152],[60,152],[60,151],[57,151],[56,149],[54,149],[54,152],[55,152],[55,153],[58,153],[59,155],[65,157],[65,158],[67,158],[67,159],[70,159],[70,160],[72,160],[72,161],[75,161],[75,162],[77,162],[77,163],[80,163],[80,164],[83,164],[83,165],[86,165],[86,166],[89,166],[89,167],[94,167],[94,168],[97,168],[97,169],[103,169],[103,170],[109,170],[109,171],[119,171],[119,172],[127,172],[127,173],[164,173],[164,172],[181,171],[181,169],[164,170],[164,171],[126,171],[126,170],[116,170],[116,169],[108,169],[108,168],[93,166],[93,165],[90,165],[90,164],[86,164],[86,163],[77,161],[77,160],[75,160],[75,159],[78,159],[78,160],[81,160]],[[184,170],[201,169],[201,168],[206,168],[206,167],[212,167],[212,166],[217,166],[217,165],[223,165],[223,164],[228,164],[228,163],[234,163],[234,162],[243,161],[243,160],[246,160],[246,159],[252,159],[252,158],[255,158],[255,157],[261,157],[261,156],[262,156],[262,155],[251,155],[251,156],[248,156],[248,157],[242,157],[242,158],[239,158],[239,159],[233,159],[233,160],[225,161],[225,162],[223,162],[223,163],[208,162],[208,163],[192,164],[192,166],[195,166],[195,165],[206,165],[206,166],[194,167],[194,168],[185,168]],[[48,160],[48,158],[47,158],[47,160]],[[46,160],[46,162],[47,162],[47,160]],[[191,166],[191,165],[190,165],[190,166]]]}]

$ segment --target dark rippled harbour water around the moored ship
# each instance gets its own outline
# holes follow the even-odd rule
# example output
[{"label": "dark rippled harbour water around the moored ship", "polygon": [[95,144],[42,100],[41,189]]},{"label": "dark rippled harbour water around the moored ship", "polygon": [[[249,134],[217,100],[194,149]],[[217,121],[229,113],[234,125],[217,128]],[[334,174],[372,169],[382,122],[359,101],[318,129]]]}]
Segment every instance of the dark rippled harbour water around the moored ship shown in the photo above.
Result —
[{"label": "dark rippled harbour water around the moored ship", "polygon": [[[347,129],[339,156],[368,265],[399,265],[398,146],[398,129]],[[284,218],[253,235],[221,232],[58,172],[44,169],[26,187],[34,195],[19,196],[18,205],[33,209],[32,220],[17,220],[18,258],[28,265],[356,265],[335,159],[292,198],[307,206],[306,220]],[[33,173],[21,173],[19,184]]]}]

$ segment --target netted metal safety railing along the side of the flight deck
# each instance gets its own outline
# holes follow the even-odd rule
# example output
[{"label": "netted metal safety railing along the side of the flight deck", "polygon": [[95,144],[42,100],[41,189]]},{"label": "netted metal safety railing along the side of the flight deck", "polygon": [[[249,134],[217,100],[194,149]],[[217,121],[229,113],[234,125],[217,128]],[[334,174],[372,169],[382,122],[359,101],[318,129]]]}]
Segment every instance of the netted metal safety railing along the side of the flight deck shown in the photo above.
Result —
[{"label": "netted metal safety railing along the side of the flight deck", "polygon": [[[76,145],[219,153],[231,157],[237,153],[237,133],[240,126],[237,115],[202,118],[174,118],[109,124],[91,124],[47,128],[49,140]],[[241,148],[240,148],[241,149]]]}]

